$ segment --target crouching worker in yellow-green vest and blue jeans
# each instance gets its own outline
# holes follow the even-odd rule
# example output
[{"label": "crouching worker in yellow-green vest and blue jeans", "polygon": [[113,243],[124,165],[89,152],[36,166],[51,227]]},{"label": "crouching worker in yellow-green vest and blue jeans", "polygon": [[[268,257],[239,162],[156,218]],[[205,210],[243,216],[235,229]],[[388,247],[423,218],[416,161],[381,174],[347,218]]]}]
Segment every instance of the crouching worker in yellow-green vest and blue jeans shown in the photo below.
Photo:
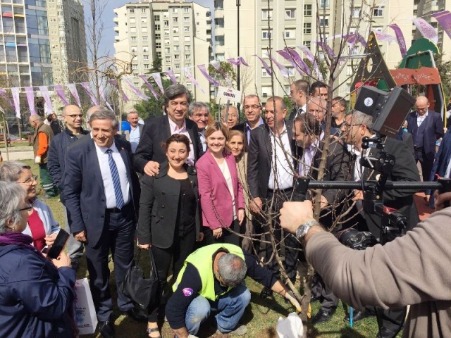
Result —
[{"label": "crouching worker in yellow-green vest and blue jeans", "polygon": [[284,296],[300,311],[292,292],[254,256],[233,244],[211,244],[188,256],[173,286],[166,318],[175,336],[195,336],[211,313],[218,325],[215,337],[245,334],[247,327],[238,323],[251,300],[246,276]]}]

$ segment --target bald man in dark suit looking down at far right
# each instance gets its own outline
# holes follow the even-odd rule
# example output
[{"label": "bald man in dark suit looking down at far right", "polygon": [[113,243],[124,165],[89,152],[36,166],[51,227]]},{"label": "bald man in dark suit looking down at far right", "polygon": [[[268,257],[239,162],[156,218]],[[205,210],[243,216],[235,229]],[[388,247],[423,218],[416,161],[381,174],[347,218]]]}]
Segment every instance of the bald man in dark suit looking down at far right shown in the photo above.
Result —
[{"label": "bald man in dark suit looking down at far right", "polygon": [[407,130],[413,135],[415,161],[421,164],[421,175],[426,182],[431,176],[435,158],[435,142],[443,137],[443,120],[439,113],[430,111],[426,96],[416,98],[416,112],[407,115]]}]

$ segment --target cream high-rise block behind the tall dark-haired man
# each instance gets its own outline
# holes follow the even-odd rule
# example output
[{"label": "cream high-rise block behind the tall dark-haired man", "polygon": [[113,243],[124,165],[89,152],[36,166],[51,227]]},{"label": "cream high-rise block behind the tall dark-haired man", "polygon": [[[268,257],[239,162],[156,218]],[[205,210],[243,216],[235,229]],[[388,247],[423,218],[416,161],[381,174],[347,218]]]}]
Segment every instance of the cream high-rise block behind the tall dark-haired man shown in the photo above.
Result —
[{"label": "cream high-rise block behind the tall dark-haired man", "polygon": [[[178,82],[185,84],[198,101],[209,101],[209,82],[196,65],[208,66],[211,54],[211,13],[209,8],[182,0],[140,1],[114,10],[115,57],[131,62],[132,83],[142,87],[137,75],[149,73],[154,61],[161,71],[173,70]],[[187,68],[204,92],[185,77]],[[127,90],[123,86],[124,91]],[[158,92],[158,89],[156,89]],[[139,98],[127,92],[130,108]]]}]

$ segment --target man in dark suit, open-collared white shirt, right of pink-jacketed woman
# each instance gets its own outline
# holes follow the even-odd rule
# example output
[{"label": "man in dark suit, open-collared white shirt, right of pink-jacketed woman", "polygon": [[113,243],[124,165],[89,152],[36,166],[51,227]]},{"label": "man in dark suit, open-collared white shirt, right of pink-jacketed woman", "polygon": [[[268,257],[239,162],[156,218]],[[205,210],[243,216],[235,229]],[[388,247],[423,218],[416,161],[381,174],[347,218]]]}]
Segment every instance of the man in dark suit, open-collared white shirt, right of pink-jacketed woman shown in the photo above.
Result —
[{"label": "man in dark suit, open-collared white shirt, right of pink-jacketed woman", "polygon": [[[283,201],[291,199],[295,173],[295,142],[292,138],[292,123],[285,123],[286,115],[283,99],[280,96],[269,97],[265,104],[266,124],[251,131],[247,153],[247,184],[252,199],[250,207],[254,213],[273,213],[281,208]],[[268,207],[271,204],[273,208],[270,210]],[[278,244],[281,230],[277,223],[274,224],[273,233]],[[298,246],[299,242],[294,237],[285,238],[285,269],[292,282],[296,278],[298,251],[291,248]],[[266,248],[266,260],[271,256],[272,249],[269,245]],[[269,268],[278,273],[275,260],[271,261]],[[263,292],[267,293],[268,290],[264,289]]]}]

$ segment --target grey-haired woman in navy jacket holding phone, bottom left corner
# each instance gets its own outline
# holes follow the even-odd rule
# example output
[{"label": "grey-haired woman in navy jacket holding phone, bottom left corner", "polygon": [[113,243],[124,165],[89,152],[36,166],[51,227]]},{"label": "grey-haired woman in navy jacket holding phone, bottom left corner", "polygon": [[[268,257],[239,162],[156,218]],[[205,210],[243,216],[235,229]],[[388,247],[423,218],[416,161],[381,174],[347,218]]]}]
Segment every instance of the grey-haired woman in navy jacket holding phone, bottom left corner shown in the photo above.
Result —
[{"label": "grey-haired woman in navy jacket holding phone, bottom left corner", "polygon": [[0,337],[74,337],[68,256],[49,261],[22,233],[32,206],[19,184],[0,182],[0,206]]}]

